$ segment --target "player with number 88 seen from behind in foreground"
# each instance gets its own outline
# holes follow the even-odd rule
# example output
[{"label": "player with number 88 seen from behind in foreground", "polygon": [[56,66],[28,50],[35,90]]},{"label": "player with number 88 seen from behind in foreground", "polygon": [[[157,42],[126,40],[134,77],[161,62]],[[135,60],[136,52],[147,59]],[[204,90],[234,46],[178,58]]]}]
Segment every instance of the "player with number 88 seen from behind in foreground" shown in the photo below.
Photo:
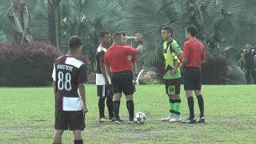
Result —
[{"label": "player with number 88 seen from behind in foreground", "polygon": [[82,39],[73,36],[69,39],[69,52],[54,62],[52,78],[55,97],[54,143],[62,143],[64,130],[73,130],[74,143],[82,143],[82,130],[85,127],[83,114],[86,107],[85,87],[86,66],[78,60],[82,51]]}]

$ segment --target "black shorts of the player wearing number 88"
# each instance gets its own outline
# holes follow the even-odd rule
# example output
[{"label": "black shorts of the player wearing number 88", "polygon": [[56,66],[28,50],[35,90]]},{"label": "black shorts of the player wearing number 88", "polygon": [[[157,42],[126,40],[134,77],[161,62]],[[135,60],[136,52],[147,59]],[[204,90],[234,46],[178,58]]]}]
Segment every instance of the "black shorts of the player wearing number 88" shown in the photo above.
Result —
[{"label": "black shorts of the player wearing number 88", "polygon": [[55,130],[84,130],[86,127],[82,110],[63,111],[58,110],[55,118]]}]

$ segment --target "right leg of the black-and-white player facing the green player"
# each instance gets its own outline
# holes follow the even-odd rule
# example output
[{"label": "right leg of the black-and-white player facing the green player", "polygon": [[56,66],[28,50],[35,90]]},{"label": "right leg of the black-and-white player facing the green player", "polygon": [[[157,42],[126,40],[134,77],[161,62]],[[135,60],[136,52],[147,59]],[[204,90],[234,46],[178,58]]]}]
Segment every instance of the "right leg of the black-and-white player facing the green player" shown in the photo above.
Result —
[{"label": "right leg of the black-and-white player facing the green player", "polygon": [[109,111],[109,119],[114,122],[113,92],[111,86],[106,86],[106,106]]}]

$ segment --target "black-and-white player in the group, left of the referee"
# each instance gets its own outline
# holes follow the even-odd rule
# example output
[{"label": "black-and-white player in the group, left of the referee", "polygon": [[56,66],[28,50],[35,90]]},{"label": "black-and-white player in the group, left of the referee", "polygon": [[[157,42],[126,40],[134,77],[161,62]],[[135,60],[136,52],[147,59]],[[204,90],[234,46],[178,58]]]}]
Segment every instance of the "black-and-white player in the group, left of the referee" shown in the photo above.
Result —
[{"label": "black-and-white player in the group, left of the referee", "polygon": [[101,44],[98,46],[96,50],[96,86],[98,93],[98,110],[99,110],[99,122],[106,122],[104,110],[105,110],[105,99],[106,106],[109,110],[109,119],[114,121],[114,113],[113,113],[113,93],[110,87],[110,77],[106,73],[105,64],[104,64],[104,54],[106,52],[106,46],[110,42],[110,33],[107,31],[102,31],[100,34]]}]

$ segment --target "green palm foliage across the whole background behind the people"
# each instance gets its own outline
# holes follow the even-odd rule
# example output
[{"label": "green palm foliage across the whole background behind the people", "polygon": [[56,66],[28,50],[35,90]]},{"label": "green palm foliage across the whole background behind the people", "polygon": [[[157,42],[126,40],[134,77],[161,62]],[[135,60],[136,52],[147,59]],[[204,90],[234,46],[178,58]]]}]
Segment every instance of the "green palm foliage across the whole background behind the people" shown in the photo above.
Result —
[{"label": "green palm foliage across the whole background behind the people", "polygon": [[[32,15],[31,34],[39,41],[48,41],[47,1],[24,1]],[[11,2],[0,2],[0,30],[5,35],[1,38],[12,38],[13,30],[8,20]],[[256,43],[255,5],[256,1],[246,0],[62,0],[60,49],[66,52],[68,38],[78,34],[84,40],[85,54],[94,64],[100,31],[126,30],[129,35],[140,32],[146,50],[139,62],[157,66],[161,72],[161,27],[172,26],[174,39],[182,46],[186,40],[186,26],[194,24],[199,28],[197,38],[206,45],[207,58],[225,53],[230,67],[235,67],[240,47],[244,43]]]}]

